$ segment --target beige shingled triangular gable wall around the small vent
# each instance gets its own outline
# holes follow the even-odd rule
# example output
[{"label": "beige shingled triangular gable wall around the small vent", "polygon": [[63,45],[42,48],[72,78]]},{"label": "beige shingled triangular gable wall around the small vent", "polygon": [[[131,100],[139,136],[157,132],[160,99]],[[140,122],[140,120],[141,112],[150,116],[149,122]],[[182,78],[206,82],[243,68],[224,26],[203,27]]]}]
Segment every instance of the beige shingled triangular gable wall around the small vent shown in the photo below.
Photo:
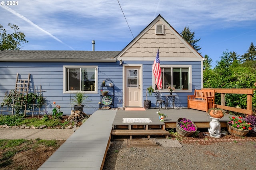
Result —
[{"label": "beige shingled triangular gable wall around the small vent", "polygon": [[[155,25],[164,25],[164,34],[156,34]],[[203,60],[200,53],[160,14],[117,55],[117,58],[126,61],[154,61],[158,48],[160,61]]]}]

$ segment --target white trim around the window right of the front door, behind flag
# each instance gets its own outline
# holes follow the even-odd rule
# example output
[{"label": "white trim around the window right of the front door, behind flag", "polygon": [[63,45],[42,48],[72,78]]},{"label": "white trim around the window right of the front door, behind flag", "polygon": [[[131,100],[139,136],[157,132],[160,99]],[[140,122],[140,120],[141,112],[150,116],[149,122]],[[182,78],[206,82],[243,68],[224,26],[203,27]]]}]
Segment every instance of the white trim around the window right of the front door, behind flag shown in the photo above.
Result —
[{"label": "white trim around the window right of the front door, behind flag", "polygon": [[[167,64],[161,64],[160,67],[166,67],[166,68],[188,68],[189,69],[189,90],[174,90],[172,92],[176,92],[176,93],[188,93],[188,92],[192,92],[192,65],[167,65]],[[152,65],[153,68],[153,65]],[[162,93],[167,93],[170,92],[167,89],[162,89],[162,90],[158,90],[155,89],[155,77],[153,74],[153,69],[152,69],[152,87],[154,88],[155,91],[159,91]]]}]

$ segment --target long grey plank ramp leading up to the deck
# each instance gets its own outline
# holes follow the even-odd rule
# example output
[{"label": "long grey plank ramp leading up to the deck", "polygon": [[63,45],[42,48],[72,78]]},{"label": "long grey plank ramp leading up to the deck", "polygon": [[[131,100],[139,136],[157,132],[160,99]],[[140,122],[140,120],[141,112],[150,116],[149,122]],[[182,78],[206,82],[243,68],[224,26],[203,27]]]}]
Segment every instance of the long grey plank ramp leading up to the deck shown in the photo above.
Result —
[{"label": "long grey plank ramp leading up to the deck", "polygon": [[100,170],[116,110],[97,110],[38,170]]}]

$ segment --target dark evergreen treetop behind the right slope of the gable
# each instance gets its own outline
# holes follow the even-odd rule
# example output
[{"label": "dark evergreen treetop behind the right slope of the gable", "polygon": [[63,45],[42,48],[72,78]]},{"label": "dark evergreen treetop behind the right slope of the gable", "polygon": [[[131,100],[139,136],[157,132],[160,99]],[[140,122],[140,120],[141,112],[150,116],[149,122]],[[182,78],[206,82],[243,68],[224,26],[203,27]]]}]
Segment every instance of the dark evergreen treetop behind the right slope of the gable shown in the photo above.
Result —
[{"label": "dark evergreen treetop behind the right slope of the gable", "polygon": [[198,41],[200,41],[200,39],[194,39],[195,38],[195,32],[191,32],[191,30],[189,29],[189,27],[185,27],[183,29],[183,31],[180,33],[181,36],[188,41],[188,43],[190,43],[190,45],[192,47],[194,47],[194,49],[196,51],[200,51],[200,46],[198,46],[196,43],[198,43]]}]

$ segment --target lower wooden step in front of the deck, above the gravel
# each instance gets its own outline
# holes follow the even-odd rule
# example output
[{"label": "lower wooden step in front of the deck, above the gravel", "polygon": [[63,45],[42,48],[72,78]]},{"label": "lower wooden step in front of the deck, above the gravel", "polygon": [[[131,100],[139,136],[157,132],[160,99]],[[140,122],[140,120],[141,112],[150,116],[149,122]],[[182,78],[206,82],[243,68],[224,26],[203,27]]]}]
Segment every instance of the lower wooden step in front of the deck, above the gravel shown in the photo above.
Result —
[{"label": "lower wooden step in front of the deck, above the gravel", "polygon": [[170,133],[163,129],[114,129],[111,132],[112,139],[114,135],[130,135],[130,139],[132,139],[132,135],[147,135],[150,138],[150,135],[164,135],[165,138],[168,138]]}]

